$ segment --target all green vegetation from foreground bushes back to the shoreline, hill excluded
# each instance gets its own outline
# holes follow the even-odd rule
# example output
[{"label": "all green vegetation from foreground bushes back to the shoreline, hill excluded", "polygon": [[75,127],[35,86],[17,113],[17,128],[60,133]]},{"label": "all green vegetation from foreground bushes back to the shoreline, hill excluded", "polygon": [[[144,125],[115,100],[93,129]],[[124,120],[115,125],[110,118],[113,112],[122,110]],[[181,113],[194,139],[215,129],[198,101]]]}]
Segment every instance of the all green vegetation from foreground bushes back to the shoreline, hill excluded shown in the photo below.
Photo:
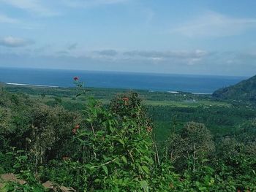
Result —
[{"label": "all green vegetation from foreground bushes back to the shoreline, hill excluded", "polygon": [[253,104],[75,84],[2,86],[0,191],[256,191]]}]

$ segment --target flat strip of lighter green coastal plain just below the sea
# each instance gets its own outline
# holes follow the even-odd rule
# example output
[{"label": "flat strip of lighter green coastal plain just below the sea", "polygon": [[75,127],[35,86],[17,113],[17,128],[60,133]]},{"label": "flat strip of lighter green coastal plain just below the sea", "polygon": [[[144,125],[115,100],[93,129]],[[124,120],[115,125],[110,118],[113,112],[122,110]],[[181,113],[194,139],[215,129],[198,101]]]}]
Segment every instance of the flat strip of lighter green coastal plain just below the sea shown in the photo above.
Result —
[{"label": "flat strip of lighter green coastal plain just below the sea", "polygon": [[13,93],[26,93],[34,99],[43,99],[44,102],[54,101],[56,98],[63,102],[84,103],[86,97],[94,96],[104,104],[108,104],[118,93],[127,93],[129,91],[137,92],[146,105],[171,106],[171,107],[229,107],[230,104],[225,101],[216,101],[211,95],[196,95],[192,93],[168,93],[152,92],[142,90],[125,89],[106,89],[106,88],[87,88],[86,96],[75,98],[75,88],[38,88],[31,86],[6,85],[5,89]]}]

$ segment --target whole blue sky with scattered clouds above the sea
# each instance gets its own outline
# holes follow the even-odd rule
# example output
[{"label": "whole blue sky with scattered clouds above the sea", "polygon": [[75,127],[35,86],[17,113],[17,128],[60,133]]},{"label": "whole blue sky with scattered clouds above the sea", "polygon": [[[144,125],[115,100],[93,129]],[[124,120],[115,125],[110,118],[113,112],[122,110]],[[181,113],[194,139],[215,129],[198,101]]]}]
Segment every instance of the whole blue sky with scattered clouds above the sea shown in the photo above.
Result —
[{"label": "whole blue sky with scattered clouds above the sea", "polygon": [[0,0],[3,67],[252,76],[255,34],[255,0]]}]

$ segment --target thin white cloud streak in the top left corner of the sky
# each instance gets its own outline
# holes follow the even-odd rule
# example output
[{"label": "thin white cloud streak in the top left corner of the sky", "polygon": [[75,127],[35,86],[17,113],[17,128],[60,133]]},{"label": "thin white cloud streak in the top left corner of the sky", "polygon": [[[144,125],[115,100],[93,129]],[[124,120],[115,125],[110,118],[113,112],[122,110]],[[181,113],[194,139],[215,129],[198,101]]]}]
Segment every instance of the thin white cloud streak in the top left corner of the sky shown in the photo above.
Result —
[{"label": "thin white cloud streak in the top left corner of the sky", "polygon": [[10,4],[18,9],[23,9],[27,12],[36,13],[39,16],[54,16],[57,12],[51,10],[42,4],[39,0],[0,0],[0,3]]}]

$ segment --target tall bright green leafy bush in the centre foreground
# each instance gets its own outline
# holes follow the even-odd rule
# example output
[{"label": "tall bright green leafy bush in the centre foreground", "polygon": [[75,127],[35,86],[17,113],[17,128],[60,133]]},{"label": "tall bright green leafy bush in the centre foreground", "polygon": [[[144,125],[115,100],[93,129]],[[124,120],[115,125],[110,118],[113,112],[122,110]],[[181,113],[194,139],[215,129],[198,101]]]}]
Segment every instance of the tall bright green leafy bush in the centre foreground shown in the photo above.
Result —
[{"label": "tall bright green leafy bush in the centre foreground", "polygon": [[[148,191],[154,155],[151,131],[141,118],[137,96],[125,97],[114,113],[97,101],[89,102],[87,128],[78,130],[76,138],[83,149],[80,161],[87,189],[104,191]],[[117,107],[117,106],[116,106]],[[130,113],[124,113],[128,109]],[[116,108],[115,108],[116,109]]]}]

